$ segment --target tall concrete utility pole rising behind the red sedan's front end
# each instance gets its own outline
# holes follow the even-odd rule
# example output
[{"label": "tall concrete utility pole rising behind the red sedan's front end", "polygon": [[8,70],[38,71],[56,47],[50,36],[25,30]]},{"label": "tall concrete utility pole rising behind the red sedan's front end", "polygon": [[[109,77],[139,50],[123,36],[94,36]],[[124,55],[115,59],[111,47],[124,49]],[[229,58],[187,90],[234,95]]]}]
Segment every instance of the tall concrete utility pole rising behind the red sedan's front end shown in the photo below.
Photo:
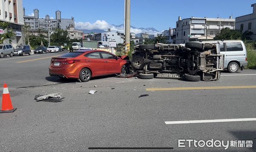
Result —
[{"label": "tall concrete utility pole rising behind the red sedan's front end", "polygon": [[130,51],[130,11],[131,0],[125,0],[125,54]]}]

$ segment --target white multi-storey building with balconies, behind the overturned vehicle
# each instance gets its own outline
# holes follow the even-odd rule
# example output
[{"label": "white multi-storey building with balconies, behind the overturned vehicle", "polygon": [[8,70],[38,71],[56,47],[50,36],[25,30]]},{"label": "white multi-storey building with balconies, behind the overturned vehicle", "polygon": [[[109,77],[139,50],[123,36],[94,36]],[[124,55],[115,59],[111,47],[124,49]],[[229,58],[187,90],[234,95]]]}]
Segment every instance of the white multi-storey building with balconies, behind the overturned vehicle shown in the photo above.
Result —
[{"label": "white multi-storey building with balconies, behind the overturned vehicle", "polygon": [[181,19],[178,17],[175,31],[175,44],[185,43],[199,39],[213,39],[222,28],[235,29],[235,19],[198,18]]}]

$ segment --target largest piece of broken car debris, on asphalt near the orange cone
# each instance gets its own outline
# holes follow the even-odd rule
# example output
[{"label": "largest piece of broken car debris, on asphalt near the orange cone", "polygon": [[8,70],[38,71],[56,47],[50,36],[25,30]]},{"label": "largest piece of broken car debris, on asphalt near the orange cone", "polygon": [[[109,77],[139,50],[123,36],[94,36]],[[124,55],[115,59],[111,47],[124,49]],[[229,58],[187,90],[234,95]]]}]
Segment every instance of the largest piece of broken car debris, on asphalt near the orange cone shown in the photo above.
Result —
[{"label": "largest piece of broken car debris, on asphalt near the orange cone", "polygon": [[46,101],[46,102],[60,102],[63,101],[63,97],[58,95],[58,93],[52,93],[49,95],[35,95],[35,100],[36,101]]}]

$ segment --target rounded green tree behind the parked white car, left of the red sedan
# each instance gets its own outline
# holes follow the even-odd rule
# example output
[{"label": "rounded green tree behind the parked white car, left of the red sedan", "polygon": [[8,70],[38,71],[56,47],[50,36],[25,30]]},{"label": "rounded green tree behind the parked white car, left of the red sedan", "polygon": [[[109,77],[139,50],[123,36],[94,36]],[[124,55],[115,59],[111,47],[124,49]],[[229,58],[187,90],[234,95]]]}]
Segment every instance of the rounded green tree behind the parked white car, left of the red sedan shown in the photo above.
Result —
[{"label": "rounded green tree behind the parked white car, left of the red sedan", "polygon": [[69,42],[69,36],[67,30],[56,29],[50,37],[51,43],[54,45],[62,45]]}]

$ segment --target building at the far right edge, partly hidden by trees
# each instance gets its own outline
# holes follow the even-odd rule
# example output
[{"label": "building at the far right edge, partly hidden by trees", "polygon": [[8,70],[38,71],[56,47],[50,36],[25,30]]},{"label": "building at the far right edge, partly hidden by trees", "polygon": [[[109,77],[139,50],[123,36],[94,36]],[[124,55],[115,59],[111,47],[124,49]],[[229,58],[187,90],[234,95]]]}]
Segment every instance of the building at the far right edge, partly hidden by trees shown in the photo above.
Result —
[{"label": "building at the far right edge, partly hidden by trees", "polygon": [[236,17],[236,29],[241,30],[243,33],[247,30],[253,32],[249,37],[256,40],[256,3],[252,4],[251,7],[253,7],[252,14]]}]

